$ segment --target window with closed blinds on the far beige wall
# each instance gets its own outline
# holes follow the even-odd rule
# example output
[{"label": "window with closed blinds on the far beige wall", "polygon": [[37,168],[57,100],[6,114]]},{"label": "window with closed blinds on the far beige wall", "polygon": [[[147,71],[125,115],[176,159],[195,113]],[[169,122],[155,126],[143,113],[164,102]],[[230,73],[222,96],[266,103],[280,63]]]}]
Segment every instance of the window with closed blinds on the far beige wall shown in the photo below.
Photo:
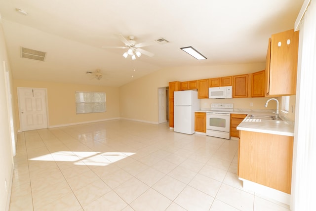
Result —
[{"label": "window with closed blinds on the far beige wall", "polygon": [[106,112],[104,92],[76,91],[76,114]]}]

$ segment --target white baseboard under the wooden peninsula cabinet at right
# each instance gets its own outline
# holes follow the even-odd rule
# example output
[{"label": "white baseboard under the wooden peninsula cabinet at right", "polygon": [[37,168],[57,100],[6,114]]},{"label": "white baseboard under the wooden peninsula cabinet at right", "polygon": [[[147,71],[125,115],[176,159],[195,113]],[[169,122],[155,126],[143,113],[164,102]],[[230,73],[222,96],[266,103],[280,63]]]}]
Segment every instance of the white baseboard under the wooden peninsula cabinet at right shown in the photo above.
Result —
[{"label": "white baseboard under the wooden peninsula cabinet at right", "polygon": [[243,179],[238,178],[243,181],[243,188],[255,192],[258,196],[263,196],[265,198],[270,198],[282,204],[290,205],[291,195],[284,193],[282,191]]}]

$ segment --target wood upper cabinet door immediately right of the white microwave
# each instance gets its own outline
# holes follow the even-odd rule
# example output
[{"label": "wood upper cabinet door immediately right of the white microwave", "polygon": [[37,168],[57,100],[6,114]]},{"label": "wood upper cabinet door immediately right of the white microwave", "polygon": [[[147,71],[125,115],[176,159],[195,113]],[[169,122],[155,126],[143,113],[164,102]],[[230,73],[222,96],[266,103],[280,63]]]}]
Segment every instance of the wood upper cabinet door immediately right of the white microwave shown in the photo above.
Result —
[{"label": "wood upper cabinet door immediately right of the white microwave", "polygon": [[233,97],[248,97],[248,74],[233,76]]}]

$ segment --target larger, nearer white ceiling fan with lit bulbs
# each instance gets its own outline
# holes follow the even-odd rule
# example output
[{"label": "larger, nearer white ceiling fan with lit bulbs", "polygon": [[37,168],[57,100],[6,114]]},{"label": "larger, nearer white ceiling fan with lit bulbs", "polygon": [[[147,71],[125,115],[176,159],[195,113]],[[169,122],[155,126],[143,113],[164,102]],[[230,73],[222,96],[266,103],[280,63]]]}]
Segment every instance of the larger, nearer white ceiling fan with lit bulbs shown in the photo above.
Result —
[{"label": "larger, nearer white ceiling fan with lit bulbs", "polygon": [[115,36],[125,44],[125,46],[102,46],[105,48],[121,48],[121,49],[128,49],[126,52],[123,53],[123,57],[127,58],[128,55],[131,56],[132,60],[136,59],[137,57],[140,57],[142,54],[145,54],[147,56],[154,56],[154,53],[151,53],[147,50],[142,49],[141,47],[148,46],[154,44],[153,42],[142,42],[142,43],[136,43],[134,41],[134,36],[128,36],[128,40],[126,40],[121,34],[115,34]]}]

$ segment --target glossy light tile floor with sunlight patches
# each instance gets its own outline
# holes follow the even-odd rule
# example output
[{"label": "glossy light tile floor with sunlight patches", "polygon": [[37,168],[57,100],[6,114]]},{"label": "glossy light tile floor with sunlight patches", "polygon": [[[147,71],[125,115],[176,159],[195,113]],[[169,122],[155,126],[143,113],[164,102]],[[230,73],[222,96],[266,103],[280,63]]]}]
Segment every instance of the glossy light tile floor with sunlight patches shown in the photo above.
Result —
[{"label": "glossy light tile floor with sunlight patches", "polygon": [[10,211],[289,211],[242,189],[237,148],[127,120],[21,132]]}]

